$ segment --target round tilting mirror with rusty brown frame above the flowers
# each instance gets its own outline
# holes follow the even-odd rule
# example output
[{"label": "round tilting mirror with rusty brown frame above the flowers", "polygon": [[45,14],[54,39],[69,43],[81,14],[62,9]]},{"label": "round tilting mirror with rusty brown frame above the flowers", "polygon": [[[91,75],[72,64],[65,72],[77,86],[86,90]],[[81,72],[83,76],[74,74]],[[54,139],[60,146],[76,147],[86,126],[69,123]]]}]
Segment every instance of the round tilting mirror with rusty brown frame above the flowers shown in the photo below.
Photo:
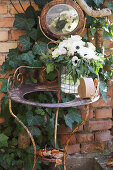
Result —
[{"label": "round tilting mirror with rusty brown frame above the flowers", "polygon": [[80,34],[85,24],[83,11],[78,4],[70,0],[53,0],[47,3],[40,19],[44,31],[56,38]]}]

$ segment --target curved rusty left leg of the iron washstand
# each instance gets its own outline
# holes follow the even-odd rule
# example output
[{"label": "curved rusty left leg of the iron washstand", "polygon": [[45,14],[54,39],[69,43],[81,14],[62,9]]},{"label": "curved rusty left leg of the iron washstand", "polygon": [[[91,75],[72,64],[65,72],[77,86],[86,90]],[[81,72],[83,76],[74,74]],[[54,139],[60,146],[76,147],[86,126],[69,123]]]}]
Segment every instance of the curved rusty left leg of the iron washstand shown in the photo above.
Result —
[{"label": "curved rusty left leg of the iron washstand", "polygon": [[9,99],[9,112],[10,114],[23,126],[23,128],[26,130],[26,132],[29,134],[33,147],[34,147],[34,164],[33,164],[33,168],[32,170],[35,170],[35,166],[36,166],[36,144],[35,141],[30,133],[30,131],[28,130],[28,128],[21,122],[21,120],[13,113],[12,108],[11,108],[11,99]]}]

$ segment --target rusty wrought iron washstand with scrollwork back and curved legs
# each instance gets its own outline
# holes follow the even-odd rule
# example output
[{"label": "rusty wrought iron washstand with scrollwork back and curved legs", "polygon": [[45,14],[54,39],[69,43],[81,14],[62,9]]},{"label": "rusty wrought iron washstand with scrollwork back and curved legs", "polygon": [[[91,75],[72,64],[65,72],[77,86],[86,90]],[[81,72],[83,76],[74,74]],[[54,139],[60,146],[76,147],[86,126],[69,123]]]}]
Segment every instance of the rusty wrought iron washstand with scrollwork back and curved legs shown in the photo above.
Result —
[{"label": "rusty wrought iron washstand with scrollwork back and curved legs", "polygon": [[[26,130],[26,132],[29,134],[33,147],[34,147],[34,163],[33,163],[33,168],[32,170],[35,170],[36,166],[36,161],[37,159],[40,159],[42,161],[48,161],[48,162],[54,162],[55,163],[55,168],[57,169],[57,165],[63,164],[64,170],[66,170],[66,151],[68,148],[69,141],[73,135],[73,133],[82,125],[86,122],[89,114],[89,104],[97,101],[99,99],[99,96],[94,97],[93,99],[80,99],[80,98],[75,98],[74,100],[70,102],[65,102],[65,103],[60,103],[60,98],[61,98],[61,92],[60,89],[58,88],[58,85],[53,83],[49,86],[45,85],[39,85],[39,84],[23,84],[24,82],[24,77],[22,74],[23,69],[39,69],[39,67],[28,67],[28,66],[21,66],[16,69],[15,73],[13,76],[9,77],[8,79],[8,85],[7,85],[7,91],[8,91],[8,98],[9,98],[9,111],[10,114],[23,126],[23,128]],[[18,84],[16,85],[15,84]],[[58,92],[58,103],[55,104],[50,104],[50,103],[38,103],[38,102],[32,102],[29,100],[26,100],[24,96],[28,93],[32,92],[40,92],[40,91],[57,91]],[[13,113],[12,111],[12,105],[11,101],[15,101],[21,104],[26,104],[26,105],[31,105],[31,106],[39,106],[39,107],[50,107],[50,108],[56,108],[56,116],[55,116],[55,126],[54,126],[54,148],[53,149],[48,149],[48,151],[52,153],[60,153],[59,157],[54,157],[54,158],[48,158],[43,155],[45,152],[45,149],[41,149],[38,153],[36,151],[36,144],[35,141],[32,137],[32,134],[28,130],[28,128],[22,123],[21,120]],[[58,112],[59,108],[61,107],[74,107],[74,106],[81,106],[85,105],[86,106],[86,116],[85,119],[71,132],[66,145],[64,146],[64,149],[57,149],[56,148],[56,139],[57,139],[57,121],[58,121]]]}]

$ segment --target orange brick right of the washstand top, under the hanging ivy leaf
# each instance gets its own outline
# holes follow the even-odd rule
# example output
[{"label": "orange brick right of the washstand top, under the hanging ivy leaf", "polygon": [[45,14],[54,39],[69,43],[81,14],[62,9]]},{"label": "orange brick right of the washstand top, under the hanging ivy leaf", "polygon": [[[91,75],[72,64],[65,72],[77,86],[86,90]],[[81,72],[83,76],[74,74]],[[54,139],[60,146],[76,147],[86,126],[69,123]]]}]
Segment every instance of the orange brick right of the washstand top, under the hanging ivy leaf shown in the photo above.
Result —
[{"label": "orange brick right of the washstand top, under the hanging ivy leaf", "polygon": [[110,107],[111,106],[111,97],[107,97],[107,103],[100,98],[97,102],[91,103],[90,107]]}]

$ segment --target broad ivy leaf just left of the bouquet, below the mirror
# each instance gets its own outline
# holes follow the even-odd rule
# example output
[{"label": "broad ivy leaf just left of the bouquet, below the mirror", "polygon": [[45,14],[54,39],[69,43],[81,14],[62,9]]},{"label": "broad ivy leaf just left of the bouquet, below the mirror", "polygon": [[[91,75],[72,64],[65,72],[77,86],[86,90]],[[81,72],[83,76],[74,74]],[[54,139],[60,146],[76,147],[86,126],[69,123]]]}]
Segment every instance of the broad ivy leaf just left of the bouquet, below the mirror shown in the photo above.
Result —
[{"label": "broad ivy leaf just left of the bouquet, below the mirror", "polygon": [[43,53],[46,52],[46,49],[47,49],[47,44],[44,43],[44,42],[41,42],[40,44],[38,43],[35,43],[35,45],[33,46],[33,54],[34,55],[42,55]]}]

